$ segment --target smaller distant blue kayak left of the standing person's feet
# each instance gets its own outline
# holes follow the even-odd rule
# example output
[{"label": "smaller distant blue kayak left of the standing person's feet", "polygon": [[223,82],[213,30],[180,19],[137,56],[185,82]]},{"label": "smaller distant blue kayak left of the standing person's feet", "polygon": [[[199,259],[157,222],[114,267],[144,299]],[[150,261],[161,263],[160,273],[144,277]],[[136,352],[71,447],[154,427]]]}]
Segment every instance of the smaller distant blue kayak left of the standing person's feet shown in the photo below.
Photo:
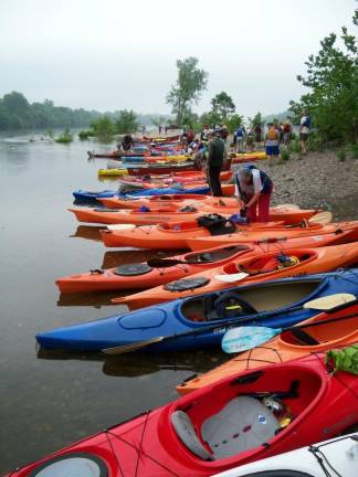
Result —
[{"label": "smaller distant blue kayak left of the standing person's feet", "polygon": [[104,190],[98,192],[87,191],[78,189],[72,192],[73,197],[77,201],[96,201],[97,199],[105,199],[112,197],[120,198],[134,198],[134,197],[150,197],[150,195],[167,195],[167,194],[207,194],[210,192],[209,187],[197,187],[192,189],[180,189],[180,188],[157,188],[157,189],[140,189],[134,190],[127,193],[118,193],[118,191]]}]

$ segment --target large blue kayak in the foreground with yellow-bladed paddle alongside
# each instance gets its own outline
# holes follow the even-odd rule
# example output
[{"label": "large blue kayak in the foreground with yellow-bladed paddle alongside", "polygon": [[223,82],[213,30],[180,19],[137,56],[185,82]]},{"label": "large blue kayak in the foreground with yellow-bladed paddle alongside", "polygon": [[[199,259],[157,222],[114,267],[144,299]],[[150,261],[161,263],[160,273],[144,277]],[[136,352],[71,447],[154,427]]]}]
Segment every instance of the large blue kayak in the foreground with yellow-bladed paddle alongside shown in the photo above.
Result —
[{"label": "large blue kayak in the foreground with yellow-bladed paddle alongside", "polygon": [[143,344],[147,340],[149,342],[139,344],[137,350],[157,352],[218,347],[225,331],[234,326],[281,328],[295,325],[320,312],[314,306],[303,308],[305,303],[340,293],[358,296],[358,268],[283,278],[167,301],[41,332],[36,340],[46,349],[85,351]]}]

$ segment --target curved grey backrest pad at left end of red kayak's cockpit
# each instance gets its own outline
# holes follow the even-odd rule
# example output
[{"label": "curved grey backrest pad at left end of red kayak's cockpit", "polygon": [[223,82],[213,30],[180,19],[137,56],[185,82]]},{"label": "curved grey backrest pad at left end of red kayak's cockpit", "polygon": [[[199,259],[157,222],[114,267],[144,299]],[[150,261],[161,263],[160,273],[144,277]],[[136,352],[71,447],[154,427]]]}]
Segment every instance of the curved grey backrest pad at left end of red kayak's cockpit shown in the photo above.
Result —
[{"label": "curved grey backrest pad at left end of red kayak's cockpit", "polygon": [[192,454],[203,460],[212,459],[211,454],[197,436],[191,418],[186,412],[175,411],[170,420],[177,436]]}]

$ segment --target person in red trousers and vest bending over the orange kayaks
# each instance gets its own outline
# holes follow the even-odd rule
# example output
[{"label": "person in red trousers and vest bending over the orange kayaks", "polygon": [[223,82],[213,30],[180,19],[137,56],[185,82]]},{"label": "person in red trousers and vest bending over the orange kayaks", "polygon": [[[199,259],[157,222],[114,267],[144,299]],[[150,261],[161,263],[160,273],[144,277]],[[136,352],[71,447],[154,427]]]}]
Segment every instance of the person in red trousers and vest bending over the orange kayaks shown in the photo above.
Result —
[{"label": "person in red trousers and vest bending over the orange kayaks", "polygon": [[268,222],[273,182],[262,170],[254,166],[240,169],[235,174],[235,198],[240,206],[244,204],[241,215],[248,215],[249,222]]}]

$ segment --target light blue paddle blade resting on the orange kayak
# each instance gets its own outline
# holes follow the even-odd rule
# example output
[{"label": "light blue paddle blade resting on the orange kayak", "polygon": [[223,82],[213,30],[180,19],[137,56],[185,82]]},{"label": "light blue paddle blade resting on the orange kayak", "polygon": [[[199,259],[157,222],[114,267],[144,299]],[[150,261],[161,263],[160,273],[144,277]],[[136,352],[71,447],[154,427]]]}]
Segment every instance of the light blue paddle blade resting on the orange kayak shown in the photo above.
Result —
[{"label": "light blue paddle blade resting on the orange kayak", "polygon": [[276,335],[280,335],[281,328],[266,328],[266,327],[240,327],[232,328],[225,332],[221,341],[221,348],[225,353],[238,353],[255,348]]}]

